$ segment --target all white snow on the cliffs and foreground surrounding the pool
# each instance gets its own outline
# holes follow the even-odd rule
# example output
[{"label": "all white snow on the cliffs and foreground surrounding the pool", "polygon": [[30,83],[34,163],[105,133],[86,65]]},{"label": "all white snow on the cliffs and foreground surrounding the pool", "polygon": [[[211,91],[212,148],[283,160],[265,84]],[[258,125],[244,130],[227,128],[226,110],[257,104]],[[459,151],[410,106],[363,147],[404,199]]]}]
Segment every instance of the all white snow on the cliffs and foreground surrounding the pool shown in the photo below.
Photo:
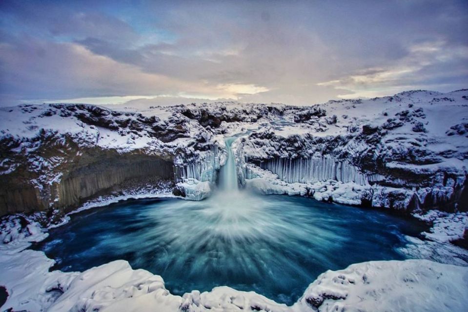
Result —
[{"label": "all white snow on the cliffs and foreground surrounding the pool", "polygon": [[[37,189],[61,175],[51,174],[63,157],[36,153],[52,138],[79,148],[119,153],[170,155],[178,170],[175,183],[187,199],[210,195],[226,162],[224,136],[246,133],[232,144],[241,184],[264,194],[308,195],[374,207],[406,209],[413,196],[449,199],[465,183],[468,168],[467,90],[451,93],[403,92],[393,97],[329,101],[312,107],[213,103],[148,107],[123,112],[90,105],[21,105],[0,109],[0,138],[14,142],[0,161],[0,175],[15,173],[24,156],[41,175],[29,181]],[[186,117],[186,110],[194,117]],[[223,119],[202,126],[209,111]],[[321,111],[326,112],[322,116]],[[97,114],[97,115],[96,115]],[[102,114],[102,116],[100,116]],[[198,114],[198,115],[197,115]],[[304,116],[301,114],[305,114]],[[307,115],[308,114],[308,115]],[[310,115],[310,116],[309,116]],[[296,118],[296,117],[300,118]],[[302,116],[302,117],[301,117]],[[103,127],[99,118],[109,122]],[[144,119],[142,118],[153,118]],[[304,118],[303,118],[304,117]],[[90,118],[94,121],[89,121]],[[95,119],[99,122],[96,122]],[[220,120],[221,120],[220,119]],[[210,120],[208,120],[210,121]],[[93,123],[99,124],[95,125]],[[154,136],[154,128],[174,129],[173,137]],[[366,133],[365,133],[366,132]],[[78,152],[80,153],[80,152]],[[364,168],[378,159],[379,170]],[[260,164],[260,165],[259,165]],[[377,167],[376,167],[377,168]],[[393,176],[393,172],[400,173]],[[403,174],[402,174],[403,173]],[[427,177],[418,181],[407,176]],[[446,178],[448,176],[448,178]],[[391,186],[388,186],[391,185]],[[135,190],[97,198],[81,207],[107,205],[126,198],[173,196],[170,189]],[[391,198],[399,198],[393,201]],[[450,244],[464,237],[466,213],[429,211],[415,216],[430,222],[425,240],[406,237],[400,251],[427,260],[371,261],[327,271],[292,307],[254,292],[217,287],[211,292],[170,294],[159,275],[114,261],[83,273],[49,272],[54,261],[26,248],[47,236],[37,222],[23,226],[16,216],[2,223],[0,283],[9,293],[5,309],[28,311],[465,311],[468,305],[468,251]],[[68,221],[66,216],[62,223]],[[338,255],[340,256],[340,255]]]}]

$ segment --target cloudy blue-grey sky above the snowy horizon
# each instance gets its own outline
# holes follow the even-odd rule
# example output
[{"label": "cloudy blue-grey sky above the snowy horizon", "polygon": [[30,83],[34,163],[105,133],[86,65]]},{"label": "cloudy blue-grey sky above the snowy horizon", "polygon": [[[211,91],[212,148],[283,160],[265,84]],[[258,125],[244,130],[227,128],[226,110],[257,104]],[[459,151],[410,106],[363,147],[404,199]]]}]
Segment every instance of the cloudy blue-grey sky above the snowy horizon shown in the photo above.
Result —
[{"label": "cloudy blue-grey sky above the snowy horizon", "polygon": [[0,106],[468,88],[468,1],[0,1]]}]

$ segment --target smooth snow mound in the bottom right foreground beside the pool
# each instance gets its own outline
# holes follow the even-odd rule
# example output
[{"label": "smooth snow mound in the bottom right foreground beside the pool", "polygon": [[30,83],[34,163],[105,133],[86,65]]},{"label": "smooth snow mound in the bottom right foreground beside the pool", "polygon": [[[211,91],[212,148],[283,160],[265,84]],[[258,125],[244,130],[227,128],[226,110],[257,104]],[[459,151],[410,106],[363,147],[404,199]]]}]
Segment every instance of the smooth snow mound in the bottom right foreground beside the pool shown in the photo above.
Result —
[{"label": "smooth snow mound in the bottom right foreground beside the pool", "polygon": [[370,261],[321,274],[298,310],[465,311],[468,269],[427,260]]}]

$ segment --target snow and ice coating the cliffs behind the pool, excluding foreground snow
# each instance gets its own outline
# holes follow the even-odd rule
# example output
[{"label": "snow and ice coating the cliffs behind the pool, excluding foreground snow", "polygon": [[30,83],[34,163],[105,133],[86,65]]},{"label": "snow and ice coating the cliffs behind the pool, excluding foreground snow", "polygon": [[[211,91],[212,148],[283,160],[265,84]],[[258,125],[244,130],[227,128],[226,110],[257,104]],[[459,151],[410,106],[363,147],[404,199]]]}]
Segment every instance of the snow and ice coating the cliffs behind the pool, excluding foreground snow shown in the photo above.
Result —
[{"label": "snow and ice coating the cliffs behind the pool, excluding foreground snow", "polygon": [[[22,105],[1,109],[0,137],[19,142],[12,152],[29,155],[30,170],[41,173],[30,182],[41,189],[52,182],[60,183],[61,177],[51,172],[63,161],[59,156],[36,155],[38,144],[42,144],[37,138],[41,136],[54,137],[63,144],[71,138],[80,147],[98,146],[119,153],[138,150],[171,155],[178,172],[175,182],[188,185],[188,178],[213,184],[226,157],[222,138],[246,133],[238,144],[245,159],[237,158],[243,183],[245,164],[260,162],[261,168],[290,184],[327,180],[361,186],[370,183],[373,192],[382,196],[375,198],[375,204],[389,207],[390,202],[383,197],[390,191],[380,190],[380,185],[399,188],[391,192],[407,194],[405,198],[415,193],[410,191],[413,187],[431,187],[440,198],[449,198],[453,190],[443,185],[443,174],[449,173],[449,180],[455,179],[458,185],[464,183],[468,170],[468,133],[464,133],[467,95],[467,90],[446,94],[409,91],[393,97],[328,101],[310,107],[235,102],[113,106],[121,112],[86,104]],[[202,126],[203,122],[207,125]],[[417,124],[422,124],[423,132],[413,131]],[[365,127],[370,129],[367,135],[362,134]],[[177,135],[155,136],[154,129],[172,129]],[[377,160],[385,168],[369,164]],[[0,174],[14,173],[18,161],[15,157],[1,160]],[[426,184],[393,176],[392,172],[423,174]],[[293,193],[304,192],[295,187]],[[405,199],[396,206],[407,203]]]}]

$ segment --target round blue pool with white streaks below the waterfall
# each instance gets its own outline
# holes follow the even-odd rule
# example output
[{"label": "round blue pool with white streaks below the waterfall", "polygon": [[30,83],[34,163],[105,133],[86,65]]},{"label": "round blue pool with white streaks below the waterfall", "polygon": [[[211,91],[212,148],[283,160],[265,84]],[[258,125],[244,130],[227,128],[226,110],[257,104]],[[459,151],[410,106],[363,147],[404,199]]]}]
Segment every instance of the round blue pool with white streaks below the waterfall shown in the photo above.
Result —
[{"label": "round blue pool with white streaks below the waterfall", "polygon": [[162,275],[174,294],[227,285],[292,304],[326,270],[404,259],[404,235],[422,230],[382,211],[236,189],[202,201],[128,200],[84,211],[34,248],[66,272],[125,259]]}]

